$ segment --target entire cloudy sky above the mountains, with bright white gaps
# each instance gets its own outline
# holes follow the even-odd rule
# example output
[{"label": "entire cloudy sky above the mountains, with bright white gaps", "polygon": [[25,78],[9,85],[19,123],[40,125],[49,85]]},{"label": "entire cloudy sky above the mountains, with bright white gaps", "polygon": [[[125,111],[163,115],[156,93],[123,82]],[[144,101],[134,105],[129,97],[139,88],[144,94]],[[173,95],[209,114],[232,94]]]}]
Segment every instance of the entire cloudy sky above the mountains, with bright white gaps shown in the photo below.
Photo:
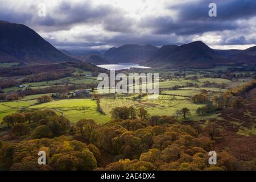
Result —
[{"label": "entire cloudy sky above the mountains, with bright white gaps", "polygon": [[[217,16],[210,17],[209,3]],[[42,6],[46,16],[39,16]],[[59,49],[185,44],[216,49],[256,44],[254,0],[0,0],[0,20],[25,24]]]}]

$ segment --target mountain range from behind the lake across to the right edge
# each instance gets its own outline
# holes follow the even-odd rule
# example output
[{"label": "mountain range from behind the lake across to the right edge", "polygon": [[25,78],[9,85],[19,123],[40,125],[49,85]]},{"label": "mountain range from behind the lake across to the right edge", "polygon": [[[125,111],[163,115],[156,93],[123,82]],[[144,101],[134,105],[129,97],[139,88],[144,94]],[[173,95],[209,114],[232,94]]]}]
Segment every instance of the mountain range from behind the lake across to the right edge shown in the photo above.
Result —
[{"label": "mountain range from behind the lake across to the right edge", "polygon": [[137,63],[149,67],[211,67],[213,65],[255,64],[256,46],[249,49],[212,49],[201,41],[160,48],[127,44],[110,48],[104,56],[110,63]]}]

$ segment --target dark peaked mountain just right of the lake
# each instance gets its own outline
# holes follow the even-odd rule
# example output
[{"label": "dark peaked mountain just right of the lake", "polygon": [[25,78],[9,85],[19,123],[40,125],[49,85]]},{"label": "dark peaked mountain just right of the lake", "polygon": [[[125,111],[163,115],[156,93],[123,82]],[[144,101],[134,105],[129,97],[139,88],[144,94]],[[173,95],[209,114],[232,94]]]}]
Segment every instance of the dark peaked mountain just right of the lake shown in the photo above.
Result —
[{"label": "dark peaked mountain just right of the lake", "polygon": [[201,41],[181,46],[163,46],[147,61],[148,66],[155,67],[208,67],[212,64],[229,64],[229,59],[222,57]]}]

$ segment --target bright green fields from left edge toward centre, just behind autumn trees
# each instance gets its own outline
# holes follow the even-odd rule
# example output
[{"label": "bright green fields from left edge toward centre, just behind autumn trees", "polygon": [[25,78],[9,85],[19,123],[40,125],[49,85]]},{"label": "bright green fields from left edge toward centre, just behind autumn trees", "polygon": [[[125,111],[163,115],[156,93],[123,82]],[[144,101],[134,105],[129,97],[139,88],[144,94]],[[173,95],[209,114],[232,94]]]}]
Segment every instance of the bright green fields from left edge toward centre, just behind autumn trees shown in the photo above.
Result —
[{"label": "bright green fields from left edge toward centre, just behind autumn trees", "polygon": [[57,113],[63,114],[72,122],[77,122],[79,119],[94,119],[97,123],[105,123],[110,120],[107,115],[97,111],[96,101],[90,99],[70,99],[37,104],[36,98],[43,95],[46,94],[26,96],[18,101],[0,102],[0,121],[6,115],[26,109],[53,109]]}]

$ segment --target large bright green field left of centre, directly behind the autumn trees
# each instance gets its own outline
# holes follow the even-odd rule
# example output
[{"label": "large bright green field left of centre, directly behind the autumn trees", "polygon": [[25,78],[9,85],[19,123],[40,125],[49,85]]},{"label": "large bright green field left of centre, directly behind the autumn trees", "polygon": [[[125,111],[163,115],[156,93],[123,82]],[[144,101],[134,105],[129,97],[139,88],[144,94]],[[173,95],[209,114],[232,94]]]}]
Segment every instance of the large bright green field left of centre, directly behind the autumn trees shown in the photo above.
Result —
[{"label": "large bright green field left of centre, directly behind the autumn trees", "polygon": [[30,106],[30,109],[53,109],[63,114],[72,122],[79,119],[94,119],[97,123],[105,123],[110,120],[107,115],[98,113],[96,101],[90,99],[70,99],[47,102]]}]

